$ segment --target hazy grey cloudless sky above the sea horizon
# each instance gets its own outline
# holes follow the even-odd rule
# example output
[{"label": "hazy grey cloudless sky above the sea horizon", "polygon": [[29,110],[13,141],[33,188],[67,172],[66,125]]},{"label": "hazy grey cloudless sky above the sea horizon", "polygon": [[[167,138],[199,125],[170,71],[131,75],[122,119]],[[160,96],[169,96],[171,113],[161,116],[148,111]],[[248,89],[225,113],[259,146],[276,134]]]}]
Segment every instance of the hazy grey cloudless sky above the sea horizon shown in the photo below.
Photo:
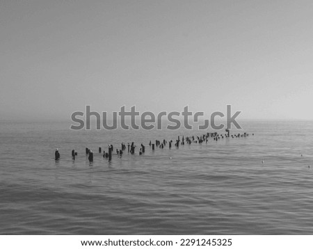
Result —
[{"label": "hazy grey cloudless sky above the sea horizon", "polygon": [[0,1],[0,114],[313,118],[313,1]]}]

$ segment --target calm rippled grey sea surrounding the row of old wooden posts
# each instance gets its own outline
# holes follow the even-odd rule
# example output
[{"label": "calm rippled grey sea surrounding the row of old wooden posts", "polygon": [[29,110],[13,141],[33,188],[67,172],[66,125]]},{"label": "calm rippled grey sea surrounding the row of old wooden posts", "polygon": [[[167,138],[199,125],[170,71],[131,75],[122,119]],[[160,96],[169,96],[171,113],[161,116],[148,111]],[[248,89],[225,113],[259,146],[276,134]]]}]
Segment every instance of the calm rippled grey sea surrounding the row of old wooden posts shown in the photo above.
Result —
[{"label": "calm rippled grey sea surrounding the row of old wooden posts", "polygon": [[0,234],[313,234],[313,122],[241,124],[250,136],[153,152],[149,140],[205,132],[0,122]]}]

